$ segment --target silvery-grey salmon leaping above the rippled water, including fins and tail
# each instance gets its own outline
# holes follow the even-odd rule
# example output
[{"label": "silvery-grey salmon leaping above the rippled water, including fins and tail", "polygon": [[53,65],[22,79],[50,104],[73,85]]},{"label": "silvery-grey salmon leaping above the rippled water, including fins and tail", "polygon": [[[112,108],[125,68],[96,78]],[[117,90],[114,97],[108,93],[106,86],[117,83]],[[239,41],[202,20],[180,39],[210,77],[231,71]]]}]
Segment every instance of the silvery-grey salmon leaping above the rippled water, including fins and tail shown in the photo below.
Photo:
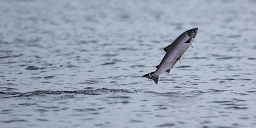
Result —
[{"label": "silvery-grey salmon leaping above the rippled water, including fins and tail", "polygon": [[166,54],[163,60],[160,62],[159,66],[156,66],[156,71],[148,73],[143,77],[150,78],[154,80],[157,84],[158,78],[164,71],[170,72],[170,69],[173,68],[175,63],[179,60],[181,56],[188,50],[192,41],[194,40],[197,34],[198,28],[189,29],[188,31],[183,32],[176,40],[174,40],[171,45],[164,48]]}]

